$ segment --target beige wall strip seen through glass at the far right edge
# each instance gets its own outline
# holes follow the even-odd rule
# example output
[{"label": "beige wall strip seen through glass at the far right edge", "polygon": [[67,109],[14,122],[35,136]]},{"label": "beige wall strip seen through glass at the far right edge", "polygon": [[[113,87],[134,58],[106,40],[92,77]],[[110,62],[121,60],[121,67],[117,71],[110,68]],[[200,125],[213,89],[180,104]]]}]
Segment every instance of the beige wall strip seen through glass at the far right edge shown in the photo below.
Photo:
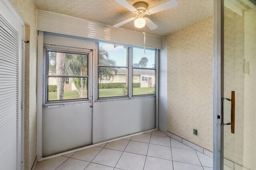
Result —
[{"label": "beige wall strip seen through glass at the far right edge", "polygon": [[[256,169],[256,8],[244,12],[244,58],[249,61],[250,74],[244,75],[244,162]],[[238,119],[238,121],[240,121]]]}]

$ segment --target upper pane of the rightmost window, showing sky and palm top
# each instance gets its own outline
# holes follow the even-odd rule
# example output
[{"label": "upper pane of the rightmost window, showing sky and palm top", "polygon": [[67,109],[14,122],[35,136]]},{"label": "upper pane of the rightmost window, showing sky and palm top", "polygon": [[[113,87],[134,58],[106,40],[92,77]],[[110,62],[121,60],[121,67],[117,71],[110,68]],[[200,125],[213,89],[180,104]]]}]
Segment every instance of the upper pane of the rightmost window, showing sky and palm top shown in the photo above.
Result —
[{"label": "upper pane of the rightmost window, showing sky and palm top", "polygon": [[132,63],[134,67],[155,68],[155,51],[144,49],[132,49]]}]

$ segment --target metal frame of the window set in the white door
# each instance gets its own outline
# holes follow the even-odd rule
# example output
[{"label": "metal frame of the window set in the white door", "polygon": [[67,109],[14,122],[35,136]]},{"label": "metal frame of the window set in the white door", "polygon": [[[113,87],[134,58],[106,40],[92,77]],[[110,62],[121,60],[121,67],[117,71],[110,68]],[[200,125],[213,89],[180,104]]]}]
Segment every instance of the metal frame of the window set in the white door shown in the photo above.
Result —
[{"label": "metal frame of the window set in the white door", "polygon": [[[69,54],[78,54],[78,55],[87,55],[87,75],[86,76],[79,76],[79,75],[49,75],[49,56],[48,52],[57,52],[57,53],[69,53]],[[76,49],[60,49],[60,48],[52,48],[52,47],[45,47],[45,80],[44,80],[44,102],[45,104],[54,104],[54,103],[66,103],[66,102],[80,102],[80,101],[88,101],[89,100],[89,74],[90,74],[90,59],[89,53],[86,51],[77,51]],[[63,77],[63,78],[87,78],[87,98],[81,99],[64,99],[64,100],[48,100],[48,78],[49,77]],[[65,80],[66,81],[66,80]],[[70,81],[70,80],[69,80]],[[71,82],[72,83],[72,82]]]}]

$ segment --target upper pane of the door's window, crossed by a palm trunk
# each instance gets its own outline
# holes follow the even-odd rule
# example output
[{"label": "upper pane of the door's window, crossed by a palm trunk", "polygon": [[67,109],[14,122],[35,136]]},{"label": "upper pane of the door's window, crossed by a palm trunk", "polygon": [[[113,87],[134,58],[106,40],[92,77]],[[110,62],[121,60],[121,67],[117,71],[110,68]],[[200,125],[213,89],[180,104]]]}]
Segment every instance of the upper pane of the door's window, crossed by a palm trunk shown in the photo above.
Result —
[{"label": "upper pane of the door's window, crossed by a palm trunk", "polygon": [[87,76],[88,56],[48,51],[48,75]]}]

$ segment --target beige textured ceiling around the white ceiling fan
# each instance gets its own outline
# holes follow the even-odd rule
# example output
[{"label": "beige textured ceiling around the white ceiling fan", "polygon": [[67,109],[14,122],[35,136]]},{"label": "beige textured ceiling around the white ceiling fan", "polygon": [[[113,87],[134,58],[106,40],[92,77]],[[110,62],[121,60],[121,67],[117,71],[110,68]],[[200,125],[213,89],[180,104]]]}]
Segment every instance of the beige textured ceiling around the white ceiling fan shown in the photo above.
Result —
[{"label": "beige textured ceiling around the white ceiling fan", "polygon": [[[168,0],[127,0],[134,5],[144,1],[148,9]],[[178,0],[176,8],[158,12],[147,16],[158,28],[150,30],[146,27],[146,33],[165,37],[169,33],[186,27],[196,21],[202,20],[213,14],[213,0]],[[74,16],[106,25],[115,25],[134,14],[115,2],[114,0],[34,0],[39,10],[46,10],[68,16]],[[126,23],[121,26],[134,30],[134,23]],[[136,31],[143,32],[144,28]]]}]

